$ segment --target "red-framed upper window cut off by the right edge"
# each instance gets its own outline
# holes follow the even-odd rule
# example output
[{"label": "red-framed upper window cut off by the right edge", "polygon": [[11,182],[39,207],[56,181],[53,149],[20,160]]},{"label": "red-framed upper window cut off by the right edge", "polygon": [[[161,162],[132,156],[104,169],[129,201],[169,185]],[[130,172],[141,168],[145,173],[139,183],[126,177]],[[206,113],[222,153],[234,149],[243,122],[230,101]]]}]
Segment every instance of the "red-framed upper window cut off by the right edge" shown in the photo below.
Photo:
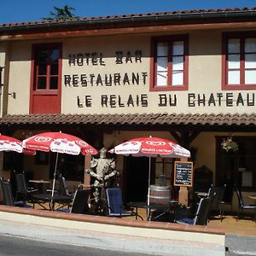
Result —
[{"label": "red-framed upper window cut off by the right edge", "polygon": [[225,34],[223,55],[223,89],[256,88],[256,36]]}]

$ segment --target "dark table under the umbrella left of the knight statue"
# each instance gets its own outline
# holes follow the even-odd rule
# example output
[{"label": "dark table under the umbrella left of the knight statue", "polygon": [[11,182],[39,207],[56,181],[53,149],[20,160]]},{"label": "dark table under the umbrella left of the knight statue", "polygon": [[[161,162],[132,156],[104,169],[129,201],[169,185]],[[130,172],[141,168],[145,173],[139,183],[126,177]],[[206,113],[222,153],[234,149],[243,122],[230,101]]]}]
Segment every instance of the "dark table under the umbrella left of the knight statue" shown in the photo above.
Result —
[{"label": "dark table under the umbrella left of the knight statue", "polygon": [[[43,207],[45,210],[55,211],[55,203],[61,203],[62,206],[58,209],[68,206],[72,201],[73,197],[68,195],[51,195],[51,194],[35,194],[33,197],[33,207],[35,204],[38,204],[40,207]],[[49,203],[49,209],[44,206],[44,203]],[[57,209],[57,210],[58,210]]]}]

